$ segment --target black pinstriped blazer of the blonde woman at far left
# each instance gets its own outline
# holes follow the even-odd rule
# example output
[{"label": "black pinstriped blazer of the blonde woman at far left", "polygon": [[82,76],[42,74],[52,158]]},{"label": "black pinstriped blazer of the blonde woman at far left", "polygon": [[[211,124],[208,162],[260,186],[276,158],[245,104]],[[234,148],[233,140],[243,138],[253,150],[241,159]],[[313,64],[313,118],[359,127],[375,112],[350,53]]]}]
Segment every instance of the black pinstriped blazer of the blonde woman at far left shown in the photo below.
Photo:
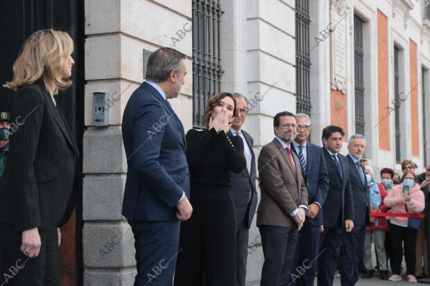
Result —
[{"label": "black pinstriped blazer of the blonde woman at far left", "polygon": [[41,80],[14,96],[6,188],[0,189],[0,222],[16,230],[55,229],[69,220],[78,148],[65,117]]}]

